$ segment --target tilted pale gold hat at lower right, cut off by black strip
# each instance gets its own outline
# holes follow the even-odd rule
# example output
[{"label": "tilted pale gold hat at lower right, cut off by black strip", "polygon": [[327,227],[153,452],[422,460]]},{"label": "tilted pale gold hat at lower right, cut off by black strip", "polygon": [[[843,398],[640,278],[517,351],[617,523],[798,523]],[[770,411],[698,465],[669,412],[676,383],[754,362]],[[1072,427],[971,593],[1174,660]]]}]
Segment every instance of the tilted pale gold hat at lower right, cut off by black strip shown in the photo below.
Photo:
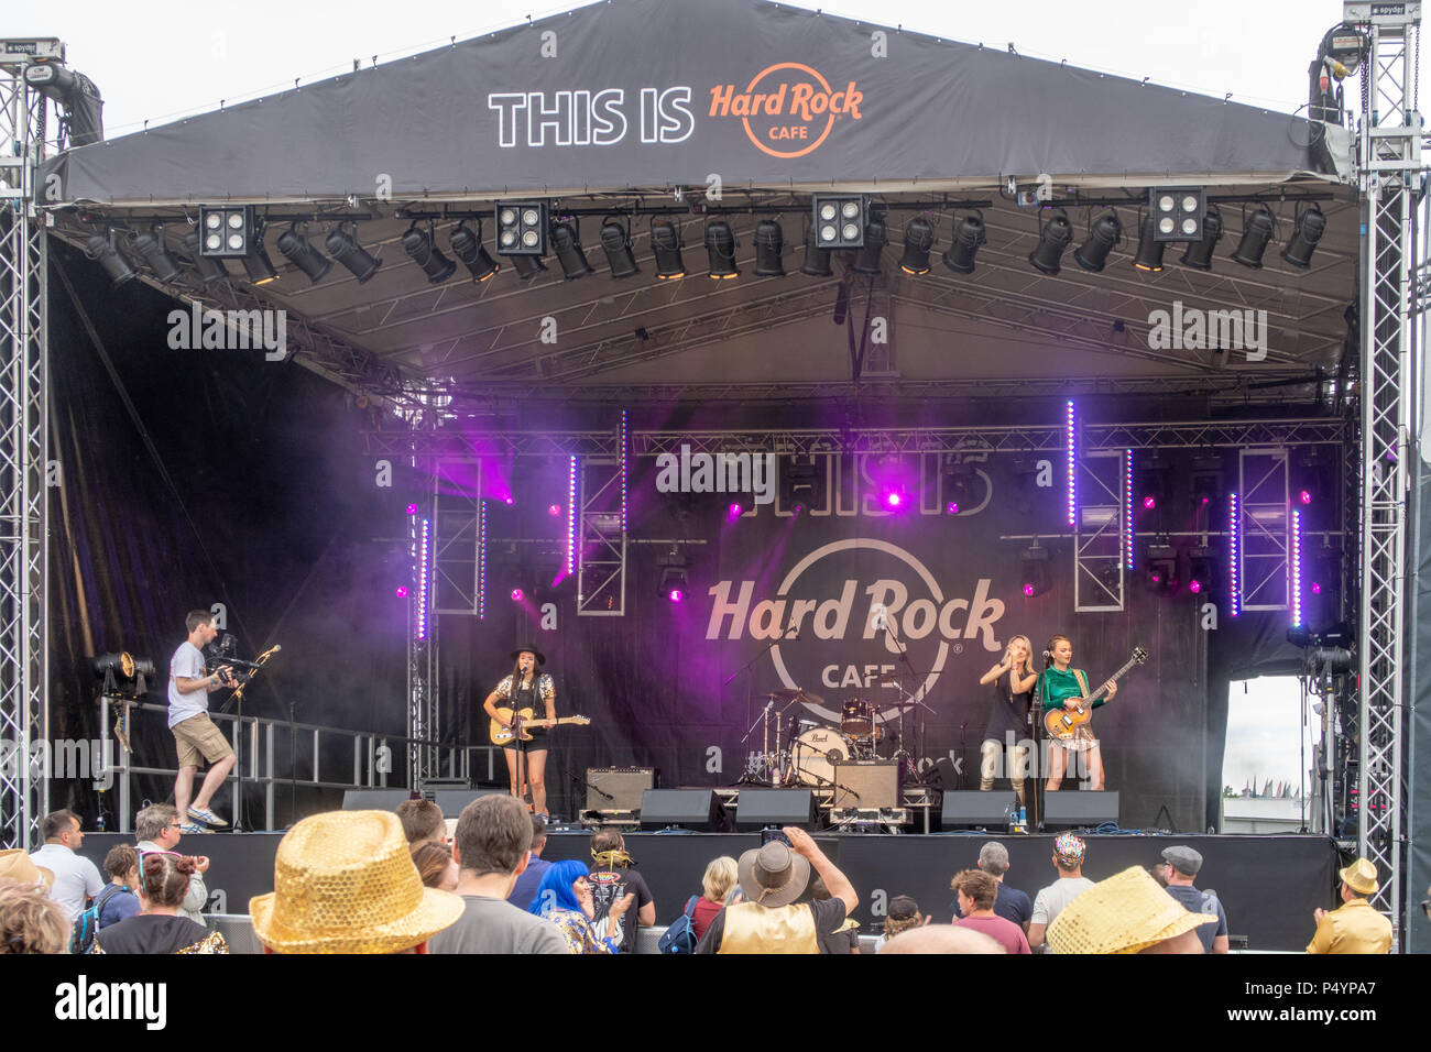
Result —
[{"label": "tilted pale gold hat at lower right, cut off by black strip", "polygon": [[1141,866],[1099,880],[1049,925],[1055,953],[1138,953],[1218,917],[1189,913]]}]

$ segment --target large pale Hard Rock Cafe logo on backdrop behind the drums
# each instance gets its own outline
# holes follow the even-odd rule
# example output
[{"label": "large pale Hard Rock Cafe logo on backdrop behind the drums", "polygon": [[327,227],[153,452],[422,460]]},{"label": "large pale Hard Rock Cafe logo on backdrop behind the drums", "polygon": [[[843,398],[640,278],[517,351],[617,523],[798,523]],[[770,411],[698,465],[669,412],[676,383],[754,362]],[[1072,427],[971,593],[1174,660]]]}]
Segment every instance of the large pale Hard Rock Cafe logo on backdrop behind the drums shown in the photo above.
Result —
[{"label": "large pale Hard Rock Cafe logo on backdrop behind the drums", "polygon": [[[864,583],[846,578],[836,587],[839,594],[834,595],[830,594],[833,581],[826,577],[821,585],[824,595],[807,591],[816,575],[811,571],[821,560],[860,551],[870,552],[873,558],[857,555],[859,562],[884,564],[873,580]],[[844,555],[844,560],[850,560],[850,555]],[[889,573],[884,571],[886,567]],[[950,650],[962,653],[966,640],[990,653],[999,648],[995,625],[1003,617],[1005,604],[1003,600],[990,598],[987,577],[976,581],[970,597],[946,597],[923,562],[889,541],[853,538],[816,548],[790,568],[774,598],[757,601],[754,581],[740,581],[738,588],[736,584],[720,581],[710,588],[711,611],[705,638],[740,640],[748,633],[753,640],[780,640],[770,648],[780,681],[786,687],[804,687],[821,697],[831,691],[871,696],[879,690],[884,694],[879,683],[892,680],[906,667],[900,657],[903,646],[914,668],[923,674],[923,680],[909,683],[907,691],[910,698],[923,700],[939,681]],[[857,615],[860,620],[854,620]],[[937,640],[932,657],[924,640]],[[853,653],[861,641],[867,641],[869,648],[880,654],[877,663],[853,663]],[[788,653],[781,653],[781,648]],[[797,681],[787,667],[787,657],[798,656],[801,664],[806,664],[811,654],[824,656],[824,660],[816,657],[814,666],[809,668],[810,674],[816,674],[814,668],[819,667],[819,686]],[[807,704],[807,708],[827,720],[840,720],[839,708],[831,711],[816,704]],[[893,719],[897,711],[889,708],[880,716]]]}]

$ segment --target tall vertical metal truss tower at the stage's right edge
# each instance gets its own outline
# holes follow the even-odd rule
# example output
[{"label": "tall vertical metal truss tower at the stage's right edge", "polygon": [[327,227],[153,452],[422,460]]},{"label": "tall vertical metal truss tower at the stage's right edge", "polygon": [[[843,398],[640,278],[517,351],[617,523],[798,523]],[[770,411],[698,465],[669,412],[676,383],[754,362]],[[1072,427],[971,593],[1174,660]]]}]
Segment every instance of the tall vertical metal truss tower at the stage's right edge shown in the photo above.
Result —
[{"label": "tall vertical metal truss tower at the stage's right edge", "polygon": [[[1395,9],[1395,13],[1387,13]],[[1362,66],[1357,169],[1362,192],[1361,623],[1358,847],[1382,875],[1371,896],[1401,926],[1405,843],[1401,716],[1405,703],[1407,511],[1411,434],[1410,285],[1422,187],[1414,52],[1421,4],[1345,4],[1369,39]],[[1405,394],[1404,394],[1405,392]]]}]

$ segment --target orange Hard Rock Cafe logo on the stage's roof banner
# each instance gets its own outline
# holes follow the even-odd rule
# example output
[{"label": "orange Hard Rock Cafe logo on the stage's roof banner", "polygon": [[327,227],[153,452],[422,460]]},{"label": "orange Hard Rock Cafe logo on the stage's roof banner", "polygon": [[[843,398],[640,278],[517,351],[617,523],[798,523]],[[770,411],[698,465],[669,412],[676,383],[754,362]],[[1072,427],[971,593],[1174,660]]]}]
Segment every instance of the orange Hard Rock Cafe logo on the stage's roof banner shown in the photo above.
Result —
[{"label": "orange Hard Rock Cafe logo on the stage's roof banner", "polygon": [[860,120],[864,96],[856,82],[834,87],[798,62],[781,62],[757,73],[744,90],[711,89],[711,117],[740,117],[746,135],[771,157],[803,157],[830,136],[836,122]]}]

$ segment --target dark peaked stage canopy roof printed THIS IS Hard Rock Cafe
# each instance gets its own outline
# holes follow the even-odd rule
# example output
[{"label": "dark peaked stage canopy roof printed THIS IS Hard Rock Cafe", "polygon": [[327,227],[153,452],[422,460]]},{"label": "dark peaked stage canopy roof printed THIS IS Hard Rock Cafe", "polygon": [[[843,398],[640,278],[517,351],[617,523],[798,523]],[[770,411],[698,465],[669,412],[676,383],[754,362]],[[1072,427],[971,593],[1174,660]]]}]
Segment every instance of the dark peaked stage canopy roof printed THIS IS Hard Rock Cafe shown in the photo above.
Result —
[{"label": "dark peaked stage canopy roof printed THIS IS Hard Rock Cafe", "polygon": [[[761,0],[611,0],[73,149],[44,166],[40,185],[60,236],[80,243],[104,223],[137,233],[167,220],[180,255],[179,220],[197,205],[256,205],[280,281],[253,289],[235,273],[202,288],[186,272],[169,291],[286,308],[301,321],[299,361],[355,388],[1259,401],[1305,396],[1314,371],[1338,364],[1355,298],[1347,142],[1342,129],[1284,113]],[[1149,186],[1208,187],[1226,230],[1211,271],[1181,266],[1176,243],[1161,272],[1130,265]],[[877,275],[856,272],[853,256],[829,278],[797,272],[810,193],[831,189],[889,209]],[[502,260],[491,281],[458,268],[431,285],[402,250],[414,222],[446,250],[446,230],[485,218],[491,245],[492,202],[512,198],[584,218],[597,272],[562,281],[548,260],[519,282]],[[1255,208],[1272,208],[1281,243],[1314,200],[1328,232],[1311,268],[1282,262],[1276,243],[1261,269],[1228,259]],[[1085,272],[1069,252],[1059,273],[1035,271],[1027,256],[1050,215],[1036,205],[1065,208],[1075,245],[1115,209],[1125,233],[1106,269]],[[970,208],[989,240],[976,272],[956,275],[939,253]],[[643,269],[625,281],[600,259],[608,213],[630,226]],[[681,229],[684,281],[653,275],[657,215]],[[737,281],[705,276],[714,216],[734,228]],[[914,216],[934,226],[926,276],[897,265]],[[783,225],[788,276],[751,275],[761,219]],[[309,223],[315,246],[332,225],[355,222],[384,268],[362,285],[342,268],[309,283],[275,252],[293,220]],[[1225,308],[1265,316],[1265,356],[1158,346],[1155,312]],[[859,385],[850,338],[829,323],[841,315],[856,328],[866,315],[886,319],[889,342],[856,333]]]}]

